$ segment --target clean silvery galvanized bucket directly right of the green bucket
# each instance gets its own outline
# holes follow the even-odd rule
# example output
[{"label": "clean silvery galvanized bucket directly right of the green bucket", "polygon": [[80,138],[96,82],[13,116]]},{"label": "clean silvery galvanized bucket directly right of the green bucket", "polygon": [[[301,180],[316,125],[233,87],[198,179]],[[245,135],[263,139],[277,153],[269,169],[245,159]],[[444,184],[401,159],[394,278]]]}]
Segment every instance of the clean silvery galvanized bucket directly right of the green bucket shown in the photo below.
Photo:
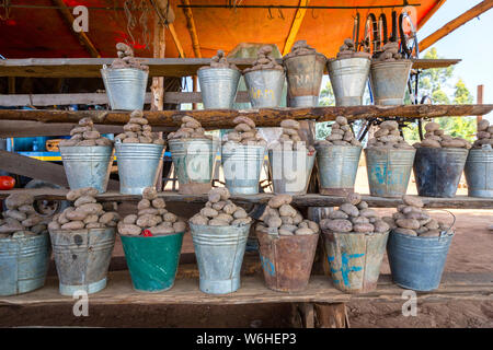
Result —
[{"label": "clean silvery galvanized bucket directly right of the green bucket", "polygon": [[190,224],[197,257],[200,291],[232,293],[240,288],[240,271],[250,224],[207,226]]}]

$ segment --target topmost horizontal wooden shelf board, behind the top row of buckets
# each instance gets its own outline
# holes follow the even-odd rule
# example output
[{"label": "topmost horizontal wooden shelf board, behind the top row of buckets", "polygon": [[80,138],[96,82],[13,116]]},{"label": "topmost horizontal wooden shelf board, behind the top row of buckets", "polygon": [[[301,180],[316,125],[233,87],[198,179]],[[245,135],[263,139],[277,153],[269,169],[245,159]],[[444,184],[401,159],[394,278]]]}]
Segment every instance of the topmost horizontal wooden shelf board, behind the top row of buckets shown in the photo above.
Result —
[{"label": "topmost horizontal wooden shelf board, behind the top row of buckets", "polygon": [[[101,78],[103,65],[114,58],[28,58],[0,60],[0,77],[33,78]],[[210,63],[210,58],[145,58],[150,77],[190,77],[198,68]],[[252,66],[252,58],[230,58],[240,69]],[[280,59],[277,59],[282,62]],[[460,62],[460,59],[417,59],[413,68],[443,68]]]}]

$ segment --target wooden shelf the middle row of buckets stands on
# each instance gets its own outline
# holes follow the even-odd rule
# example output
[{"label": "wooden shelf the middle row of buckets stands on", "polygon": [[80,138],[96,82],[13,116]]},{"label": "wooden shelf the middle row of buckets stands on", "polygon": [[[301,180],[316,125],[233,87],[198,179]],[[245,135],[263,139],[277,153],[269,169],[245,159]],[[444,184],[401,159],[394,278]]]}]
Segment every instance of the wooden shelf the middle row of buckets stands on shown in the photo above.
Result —
[{"label": "wooden shelf the middle row of buckets stands on", "polygon": [[[7,198],[10,194],[14,192],[28,192],[38,199],[65,200],[65,196],[68,190],[53,188],[0,190],[0,199]],[[206,195],[191,196],[180,195],[173,191],[163,191],[159,192],[158,196],[163,198],[167,202],[205,203],[207,201]],[[262,205],[266,203],[272,196],[272,194],[232,196],[231,199],[237,203]],[[400,198],[371,197],[368,195],[364,195],[362,197],[363,200],[367,201],[368,205],[374,208],[397,208],[397,206],[402,205],[402,199]],[[455,198],[420,198],[423,200],[426,208],[493,209],[493,198],[466,196],[457,196]],[[98,196],[98,200],[100,201],[139,201],[140,199],[140,196],[121,195],[117,191],[107,191]],[[344,202],[344,197],[309,194],[303,196],[294,196],[293,202],[299,207],[337,207]]]}]

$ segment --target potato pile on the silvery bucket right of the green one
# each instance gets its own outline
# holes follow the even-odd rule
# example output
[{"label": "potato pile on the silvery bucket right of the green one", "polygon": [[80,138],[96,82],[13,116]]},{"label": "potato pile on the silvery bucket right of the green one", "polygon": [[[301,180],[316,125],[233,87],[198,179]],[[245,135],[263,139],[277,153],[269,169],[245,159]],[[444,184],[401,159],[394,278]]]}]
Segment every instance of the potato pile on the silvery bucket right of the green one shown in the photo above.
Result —
[{"label": "potato pile on the silvery bucket right of the green one", "polygon": [[208,194],[208,201],[200,212],[190,219],[195,225],[239,226],[252,222],[246,211],[229,200],[230,194],[226,187],[213,188]]}]

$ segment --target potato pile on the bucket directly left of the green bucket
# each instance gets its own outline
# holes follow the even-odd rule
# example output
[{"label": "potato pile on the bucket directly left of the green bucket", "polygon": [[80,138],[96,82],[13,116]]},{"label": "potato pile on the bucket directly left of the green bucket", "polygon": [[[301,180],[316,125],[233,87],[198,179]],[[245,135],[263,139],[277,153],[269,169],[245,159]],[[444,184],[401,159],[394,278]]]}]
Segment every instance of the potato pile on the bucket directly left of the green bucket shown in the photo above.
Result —
[{"label": "potato pile on the bucket directly left of the green bucket", "polygon": [[49,230],[82,230],[115,228],[119,215],[115,211],[105,212],[103,205],[94,198],[99,194],[92,187],[78,188],[67,194],[67,200],[73,201],[61,213],[55,214],[48,224]]}]

